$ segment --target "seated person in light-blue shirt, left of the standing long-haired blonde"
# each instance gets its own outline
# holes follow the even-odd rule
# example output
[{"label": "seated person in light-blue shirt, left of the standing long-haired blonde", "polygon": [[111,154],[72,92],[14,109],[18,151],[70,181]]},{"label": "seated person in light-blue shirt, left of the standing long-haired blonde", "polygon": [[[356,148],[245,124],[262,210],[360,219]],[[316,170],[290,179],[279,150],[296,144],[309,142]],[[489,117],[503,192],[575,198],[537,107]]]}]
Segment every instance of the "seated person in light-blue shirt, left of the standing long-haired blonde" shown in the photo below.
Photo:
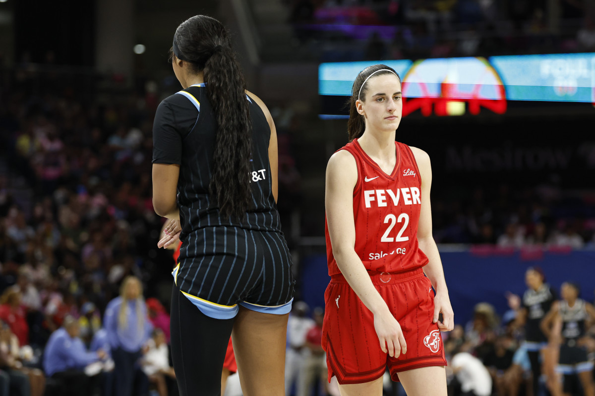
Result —
[{"label": "seated person in light-blue shirt, left of the standing long-haired blonde", "polygon": [[83,395],[97,387],[98,376],[89,377],[86,366],[104,360],[107,354],[99,349],[88,352],[79,338],[79,322],[66,316],[62,327],[49,337],[43,355],[43,370],[46,375],[60,381],[60,395]]}]

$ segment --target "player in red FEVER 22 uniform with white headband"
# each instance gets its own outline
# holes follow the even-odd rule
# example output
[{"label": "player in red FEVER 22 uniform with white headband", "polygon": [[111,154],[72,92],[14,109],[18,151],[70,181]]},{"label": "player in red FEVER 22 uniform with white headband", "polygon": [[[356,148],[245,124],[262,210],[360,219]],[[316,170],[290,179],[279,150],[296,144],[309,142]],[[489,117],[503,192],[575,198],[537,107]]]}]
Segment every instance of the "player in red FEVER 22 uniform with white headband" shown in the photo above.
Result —
[{"label": "player in red FEVER 22 uniform with white headband", "polygon": [[430,158],[395,141],[401,113],[396,72],[365,68],[350,142],[328,161],[322,347],[342,396],[380,396],[387,367],[409,396],[447,394],[440,331],[452,330],[453,311],[432,237]]}]

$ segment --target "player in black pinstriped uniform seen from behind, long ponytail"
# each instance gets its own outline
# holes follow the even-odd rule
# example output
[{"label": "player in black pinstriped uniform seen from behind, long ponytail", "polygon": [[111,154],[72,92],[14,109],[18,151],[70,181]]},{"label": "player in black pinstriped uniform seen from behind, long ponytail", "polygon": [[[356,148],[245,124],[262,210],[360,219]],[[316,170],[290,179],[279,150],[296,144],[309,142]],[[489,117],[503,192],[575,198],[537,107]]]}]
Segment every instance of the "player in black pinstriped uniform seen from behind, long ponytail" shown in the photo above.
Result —
[{"label": "player in black pinstriped uniform seen from behind, long ponytail", "polygon": [[243,393],[280,395],[294,281],[275,204],[273,120],[245,91],[219,21],[184,21],[172,52],[184,89],[155,115],[153,202],[173,220],[166,234],[181,226],[171,305],[180,393],[220,395],[233,329]]}]

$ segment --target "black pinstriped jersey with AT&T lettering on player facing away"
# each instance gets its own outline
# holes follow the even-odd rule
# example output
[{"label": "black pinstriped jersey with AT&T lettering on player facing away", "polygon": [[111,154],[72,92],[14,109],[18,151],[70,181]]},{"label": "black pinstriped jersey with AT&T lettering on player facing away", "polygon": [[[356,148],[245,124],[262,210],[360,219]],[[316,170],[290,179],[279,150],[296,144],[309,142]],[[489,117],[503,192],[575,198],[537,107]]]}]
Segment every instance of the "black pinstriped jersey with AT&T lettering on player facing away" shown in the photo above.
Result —
[{"label": "black pinstriped jersey with AT&T lettering on player facing away", "polygon": [[[280,232],[281,224],[273,198],[268,144],[271,129],[258,103],[248,96],[252,121],[252,172],[246,175],[252,189],[252,207],[241,220],[221,217],[217,203],[208,194],[215,150],[216,122],[205,84],[196,84],[164,99],[153,125],[153,163],[179,164],[177,202],[186,249],[180,261],[193,256],[187,241],[205,227],[239,227]],[[196,240],[196,239],[194,239]]]}]

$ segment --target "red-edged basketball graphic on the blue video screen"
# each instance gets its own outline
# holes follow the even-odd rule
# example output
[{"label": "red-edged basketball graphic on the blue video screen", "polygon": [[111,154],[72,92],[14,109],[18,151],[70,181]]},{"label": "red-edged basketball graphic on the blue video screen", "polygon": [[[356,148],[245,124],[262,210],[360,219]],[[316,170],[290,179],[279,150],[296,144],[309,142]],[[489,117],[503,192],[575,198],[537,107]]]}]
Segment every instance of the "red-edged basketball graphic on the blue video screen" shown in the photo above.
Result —
[{"label": "red-edged basketball graphic on the blue video screen", "polygon": [[500,75],[485,58],[424,59],[403,78],[403,116],[473,115],[481,107],[506,112],[506,91]]}]

